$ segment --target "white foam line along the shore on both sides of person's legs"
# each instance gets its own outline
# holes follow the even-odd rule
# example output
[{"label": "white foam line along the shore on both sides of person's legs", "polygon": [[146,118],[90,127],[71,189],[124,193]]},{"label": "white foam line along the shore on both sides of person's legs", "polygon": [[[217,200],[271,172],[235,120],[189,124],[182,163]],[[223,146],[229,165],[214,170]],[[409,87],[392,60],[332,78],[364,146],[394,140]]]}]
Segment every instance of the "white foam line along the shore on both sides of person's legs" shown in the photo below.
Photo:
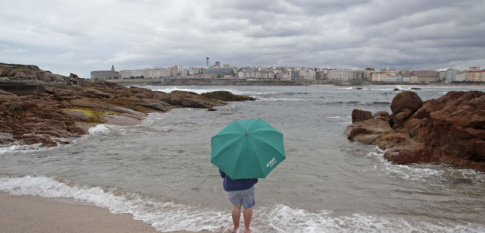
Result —
[{"label": "white foam line along the shore on both sides of person's legs", "polygon": [[[157,231],[227,232],[232,221],[230,210],[213,209],[156,201],[136,193],[120,194],[119,190],[64,183],[43,176],[0,176],[0,190],[13,195],[67,197],[107,208],[114,214],[132,214],[133,219],[152,225]],[[254,209],[254,233],[337,233],[337,232],[484,232],[484,226],[409,223],[400,218],[376,217],[362,213],[333,216],[332,211],[319,213],[286,205]]]}]

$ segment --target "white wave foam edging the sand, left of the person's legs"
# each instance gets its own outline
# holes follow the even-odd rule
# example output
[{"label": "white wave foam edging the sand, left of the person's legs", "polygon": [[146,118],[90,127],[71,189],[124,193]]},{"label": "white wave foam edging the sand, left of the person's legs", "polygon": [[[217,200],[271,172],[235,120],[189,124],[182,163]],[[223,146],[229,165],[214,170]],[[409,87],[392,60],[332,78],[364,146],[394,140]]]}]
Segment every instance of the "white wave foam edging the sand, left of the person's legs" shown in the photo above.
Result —
[{"label": "white wave foam edging the sand, left of the person's legs", "polygon": [[33,195],[50,198],[73,198],[77,201],[107,208],[113,214],[132,214],[133,219],[151,224],[158,231],[202,231],[220,229],[230,216],[173,202],[156,202],[128,193],[115,194],[115,189],[67,185],[43,176],[0,177],[0,190],[12,195]]}]

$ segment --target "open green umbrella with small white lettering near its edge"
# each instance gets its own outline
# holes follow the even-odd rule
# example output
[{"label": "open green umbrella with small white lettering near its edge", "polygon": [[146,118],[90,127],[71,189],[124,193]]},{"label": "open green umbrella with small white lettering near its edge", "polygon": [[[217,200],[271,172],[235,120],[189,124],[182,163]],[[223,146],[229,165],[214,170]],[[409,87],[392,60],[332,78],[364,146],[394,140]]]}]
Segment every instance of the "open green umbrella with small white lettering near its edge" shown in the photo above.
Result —
[{"label": "open green umbrella with small white lettering near its edge", "polygon": [[233,180],[265,178],[285,158],[283,134],[260,119],[233,121],[212,137],[211,163]]}]

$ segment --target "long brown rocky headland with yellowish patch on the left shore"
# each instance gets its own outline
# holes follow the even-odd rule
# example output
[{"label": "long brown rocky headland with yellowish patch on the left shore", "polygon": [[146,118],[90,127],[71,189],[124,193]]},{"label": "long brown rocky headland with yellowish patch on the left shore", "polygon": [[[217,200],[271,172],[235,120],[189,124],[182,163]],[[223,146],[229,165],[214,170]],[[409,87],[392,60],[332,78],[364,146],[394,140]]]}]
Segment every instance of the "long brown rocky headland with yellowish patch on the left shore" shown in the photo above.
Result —
[{"label": "long brown rocky headland with yellowish patch on the left shore", "polygon": [[[81,79],[72,73],[69,77],[55,75],[32,65],[0,63],[0,75],[0,144],[55,146],[87,134],[99,123],[132,125],[149,112],[180,107],[215,110],[226,101],[254,100],[229,92],[204,95],[127,88],[99,79]],[[16,88],[2,90],[1,84]],[[26,93],[21,90],[24,86],[39,88]]]}]

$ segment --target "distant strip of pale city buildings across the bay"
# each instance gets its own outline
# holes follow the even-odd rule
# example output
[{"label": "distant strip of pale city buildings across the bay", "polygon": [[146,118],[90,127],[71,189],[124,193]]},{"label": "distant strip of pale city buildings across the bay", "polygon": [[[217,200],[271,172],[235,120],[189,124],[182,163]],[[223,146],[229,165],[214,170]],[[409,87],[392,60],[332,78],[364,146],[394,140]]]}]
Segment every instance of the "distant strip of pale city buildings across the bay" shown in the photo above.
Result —
[{"label": "distant strip of pale city buildings across the bay", "polygon": [[327,69],[309,67],[231,67],[216,61],[215,66],[209,66],[206,57],[206,67],[183,68],[176,65],[168,68],[125,69],[91,71],[91,79],[244,79],[252,81],[371,81],[387,83],[452,83],[452,82],[485,82],[485,69],[479,66],[469,67],[469,70],[453,68],[440,70],[395,70],[384,69]]}]

